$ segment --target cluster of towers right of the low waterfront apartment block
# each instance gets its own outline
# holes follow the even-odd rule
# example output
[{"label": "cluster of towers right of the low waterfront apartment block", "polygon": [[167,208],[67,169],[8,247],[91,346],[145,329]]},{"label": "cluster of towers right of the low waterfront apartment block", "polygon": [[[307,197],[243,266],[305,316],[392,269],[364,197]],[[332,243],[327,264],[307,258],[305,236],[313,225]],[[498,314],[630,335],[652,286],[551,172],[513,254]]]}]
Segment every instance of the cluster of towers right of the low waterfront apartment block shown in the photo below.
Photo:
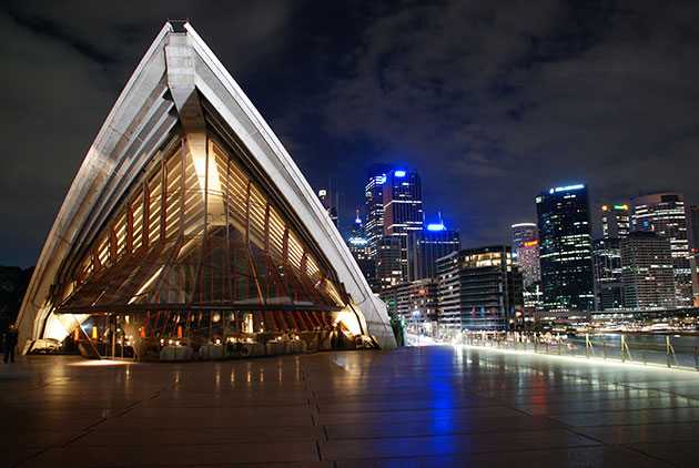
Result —
[{"label": "cluster of towers right of the low waterfront apartment block", "polygon": [[[543,312],[575,317],[579,312],[698,305],[690,225],[698,222],[699,210],[696,205],[687,210],[681,193],[602,205],[602,237],[596,240],[587,185],[550,189],[536,197],[536,226],[511,226],[515,262],[524,268],[527,316]],[[525,226],[538,231],[536,269],[523,242]],[[691,245],[697,245],[696,234]]]}]

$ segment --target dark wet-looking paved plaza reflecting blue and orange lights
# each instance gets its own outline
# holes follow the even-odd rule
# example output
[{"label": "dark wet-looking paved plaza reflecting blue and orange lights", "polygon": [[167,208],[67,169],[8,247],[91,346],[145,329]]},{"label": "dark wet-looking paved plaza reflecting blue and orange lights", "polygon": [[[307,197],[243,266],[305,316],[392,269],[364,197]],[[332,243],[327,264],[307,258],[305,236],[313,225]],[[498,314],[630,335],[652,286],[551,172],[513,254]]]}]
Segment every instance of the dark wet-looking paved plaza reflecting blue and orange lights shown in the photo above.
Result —
[{"label": "dark wet-looking paved plaza reflecting blue and orange lights", "polygon": [[699,373],[450,347],[0,367],[2,466],[696,466]]}]

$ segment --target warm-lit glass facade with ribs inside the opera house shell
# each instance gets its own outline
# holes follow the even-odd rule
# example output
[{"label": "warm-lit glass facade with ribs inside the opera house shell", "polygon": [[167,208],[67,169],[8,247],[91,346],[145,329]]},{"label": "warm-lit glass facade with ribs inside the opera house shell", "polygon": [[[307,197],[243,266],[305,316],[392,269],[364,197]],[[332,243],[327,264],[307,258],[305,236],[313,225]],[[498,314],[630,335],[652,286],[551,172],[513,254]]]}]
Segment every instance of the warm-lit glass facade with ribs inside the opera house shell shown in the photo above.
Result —
[{"label": "warm-lit glass facade with ribs inside the opera house shell", "polygon": [[239,155],[213,134],[205,142],[193,152],[180,136],[159,152],[54,292],[55,313],[92,316],[93,342],[113,342],[104,316],[123,342],[327,330],[347,303]]}]

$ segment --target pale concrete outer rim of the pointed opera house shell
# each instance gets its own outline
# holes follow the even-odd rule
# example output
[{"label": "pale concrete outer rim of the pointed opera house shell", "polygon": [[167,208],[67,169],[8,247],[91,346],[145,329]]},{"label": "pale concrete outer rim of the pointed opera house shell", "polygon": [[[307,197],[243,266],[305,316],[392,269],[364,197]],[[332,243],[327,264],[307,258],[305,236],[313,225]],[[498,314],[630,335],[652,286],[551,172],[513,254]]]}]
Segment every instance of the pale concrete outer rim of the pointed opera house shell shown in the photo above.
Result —
[{"label": "pale concrete outer rim of the pointed opera house shell", "polygon": [[[184,28],[188,44],[197,59],[188,65],[194,73],[196,89],[237,133],[293,206],[363,313],[366,333],[374,336],[383,348],[395,347],[385,304],[372,293],[311,185],[219,59],[191,24],[185,23]],[[41,337],[43,322],[51,312],[45,306],[47,297],[52,285],[60,279],[58,275],[67,258],[79,247],[75,244],[89,242],[88,232],[100,227],[116,203],[114,199],[128,190],[130,182],[148,163],[144,160],[148,155],[141,153],[152,149],[156,142],[162,144],[176,124],[176,119],[173,118],[172,122],[168,120],[171,109],[163,105],[162,99],[155,99],[159,96],[158,87],[162,87],[163,77],[168,75],[164,47],[171,33],[175,33],[172,26],[165,23],[110,111],[61,205],[18,317],[20,334],[26,340]],[[171,83],[166,87],[170,89]],[[153,121],[160,122],[155,130]],[[143,141],[146,130],[148,142]]]}]

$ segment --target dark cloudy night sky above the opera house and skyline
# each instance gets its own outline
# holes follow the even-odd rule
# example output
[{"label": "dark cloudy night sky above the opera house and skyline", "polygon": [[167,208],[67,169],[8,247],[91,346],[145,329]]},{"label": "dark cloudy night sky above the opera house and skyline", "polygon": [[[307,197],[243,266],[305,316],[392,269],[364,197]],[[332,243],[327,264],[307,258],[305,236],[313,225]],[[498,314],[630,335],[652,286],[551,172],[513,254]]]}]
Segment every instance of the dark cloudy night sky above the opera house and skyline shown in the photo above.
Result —
[{"label": "dark cloudy night sky above the opera house and skyline", "polygon": [[0,9],[0,264],[36,264],[168,18],[190,19],[316,191],[332,180],[343,228],[377,162],[419,171],[427,221],[440,211],[464,246],[510,243],[510,224],[536,221],[535,196],[557,185],[590,185],[596,235],[602,203],[657,191],[699,203],[696,1]]}]

